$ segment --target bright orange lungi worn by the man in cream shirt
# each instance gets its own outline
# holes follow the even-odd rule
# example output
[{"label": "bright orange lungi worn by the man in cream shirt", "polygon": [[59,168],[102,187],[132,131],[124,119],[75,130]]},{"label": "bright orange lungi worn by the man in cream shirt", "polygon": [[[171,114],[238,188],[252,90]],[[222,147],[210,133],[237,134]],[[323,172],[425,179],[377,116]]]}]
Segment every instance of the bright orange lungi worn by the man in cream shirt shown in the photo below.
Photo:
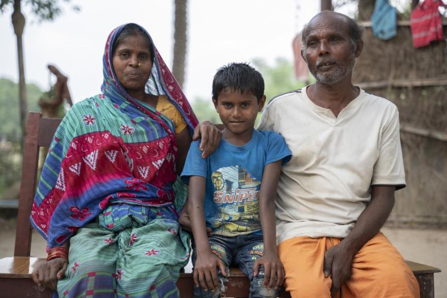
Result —
[{"label": "bright orange lungi worn by the man in cream shirt", "polygon": [[[292,298],[330,297],[331,278],[325,278],[325,252],[341,239],[294,237],[278,245],[286,270],[285,286]],[[357,252],[351,277],[338,297],[419,297],[419,284],[390,241],[379,232]]]}]

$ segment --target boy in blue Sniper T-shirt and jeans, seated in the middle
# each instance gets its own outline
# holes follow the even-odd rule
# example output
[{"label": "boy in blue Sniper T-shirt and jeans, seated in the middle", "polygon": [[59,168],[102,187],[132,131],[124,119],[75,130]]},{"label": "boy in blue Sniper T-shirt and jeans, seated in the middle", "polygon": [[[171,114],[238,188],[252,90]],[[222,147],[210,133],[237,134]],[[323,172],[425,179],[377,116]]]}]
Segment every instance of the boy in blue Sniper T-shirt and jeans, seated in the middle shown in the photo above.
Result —
[{"label": "boy in blue Sniper T-shirt and jeans, seated in the middle", "polygon": [[274,199],[292,153],[279,134],[254,129],[264,102],[264,81],[253,67],[219,68],[213,103],[224,124],[221,143],[204,159],[200,141],[193,142],[181,174],[189,183],[194,297],[219,297],[231,264],[250,278],[250,297],[276,297],[284,280]]}]

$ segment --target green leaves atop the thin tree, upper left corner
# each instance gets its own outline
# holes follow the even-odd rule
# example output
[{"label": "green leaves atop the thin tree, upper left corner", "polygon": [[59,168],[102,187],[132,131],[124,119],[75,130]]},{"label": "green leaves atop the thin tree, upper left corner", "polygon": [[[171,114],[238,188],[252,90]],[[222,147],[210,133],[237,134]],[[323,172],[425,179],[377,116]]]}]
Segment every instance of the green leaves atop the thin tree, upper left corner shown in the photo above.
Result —
[{"label": "green leaves atop the thin tree, upper left corner", "polygon": [[[22,3],[31,5],[33,14],[42,20],[53,20],[62,13],[62,8],[59,0],[22,0]],[[63,2],[70,2],[70,0],[63,0]],[[5,12],[6,8],[14,5],[14,0],[0,0],[0,12]],[[80,11],[81,8],[77,5],[71,6],[74,11]]]}]

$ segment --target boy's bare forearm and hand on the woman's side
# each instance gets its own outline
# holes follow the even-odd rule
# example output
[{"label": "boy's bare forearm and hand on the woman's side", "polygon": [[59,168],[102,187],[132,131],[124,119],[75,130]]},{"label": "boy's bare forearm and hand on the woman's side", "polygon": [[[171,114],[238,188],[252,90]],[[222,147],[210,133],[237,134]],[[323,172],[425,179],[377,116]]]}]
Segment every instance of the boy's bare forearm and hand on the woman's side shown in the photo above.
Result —
[{"label": "boy's bare forearm and hand on the woman's side", "polygon": [[189,178],[188,213],[192,234],[196,246],[197,260],[194,264],[193,279],[196,286],[202,286],[205,291],[214,291],[219,286],[216,267],[226,276],[224,263],[211,253],[206,234],[204,212],[206,178],[191,176]]}]

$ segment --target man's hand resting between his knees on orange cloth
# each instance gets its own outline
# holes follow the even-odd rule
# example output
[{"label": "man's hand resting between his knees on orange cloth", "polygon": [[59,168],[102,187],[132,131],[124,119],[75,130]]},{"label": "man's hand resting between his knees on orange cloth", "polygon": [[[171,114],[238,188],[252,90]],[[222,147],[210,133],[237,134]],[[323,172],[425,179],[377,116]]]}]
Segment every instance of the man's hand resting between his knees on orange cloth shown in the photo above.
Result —
[{"label": "man's hand resting between his knees on orange cloth", "polygon": [[330,288],[331,297],[335,297],[338,291],[340,291],[341,286],[351,276],[353,259],[354,253],[350,252],[343,245],[343,242],[327,249],[323,272],[325,277],[330,275],[332,279],[332,286]]}]

